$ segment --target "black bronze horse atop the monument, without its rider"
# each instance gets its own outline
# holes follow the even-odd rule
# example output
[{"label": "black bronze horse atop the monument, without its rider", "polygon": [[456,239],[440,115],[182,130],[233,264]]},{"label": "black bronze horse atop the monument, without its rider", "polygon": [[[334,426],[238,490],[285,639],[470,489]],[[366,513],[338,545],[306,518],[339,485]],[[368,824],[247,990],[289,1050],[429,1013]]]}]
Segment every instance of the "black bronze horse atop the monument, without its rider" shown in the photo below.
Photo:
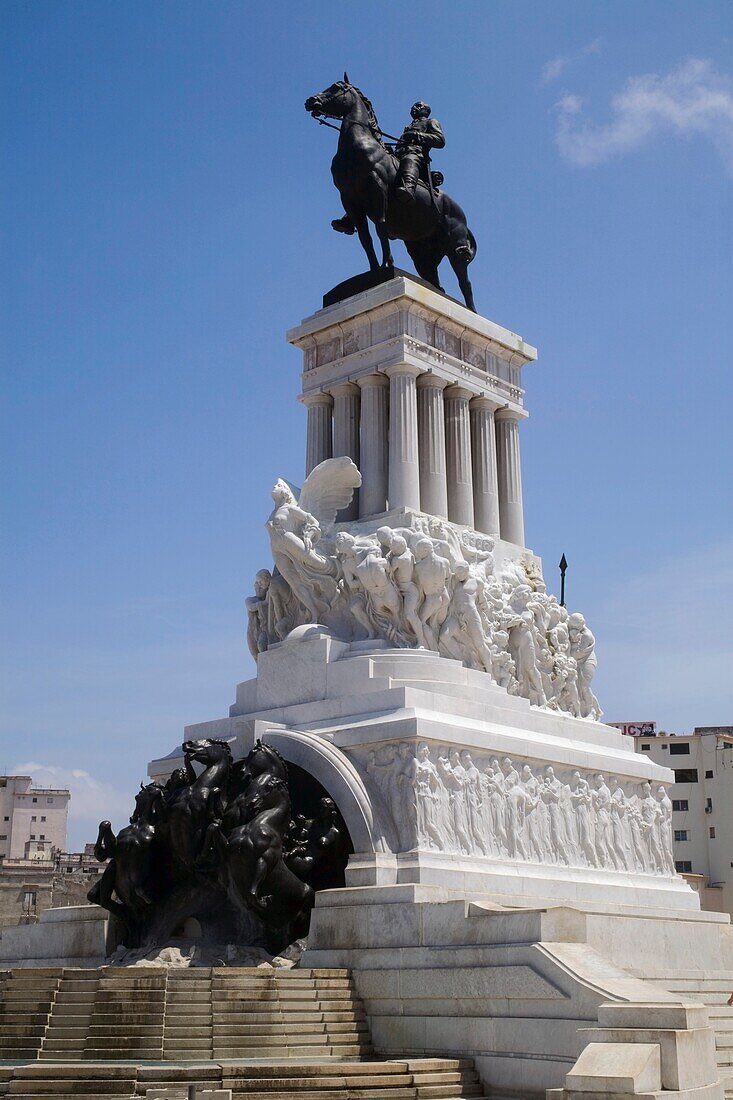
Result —
[{"label": "black bronze horse atop the monument, without its rider", "polygon": [[393,266],[390,241],[404,241],[420,278],[441,290],[438,265],[448,256],[466,305],[475,312],[468,265],[477,245],[458,204],[446,191],[435,193],[425,182],[418,183],[414,202],[395,201],[397,158],[382,141],[372,105],[349,82],[346,73],[343,80],[306,99],[305,109],[316,118],[341,120],[331,175],[370,268],[380,267],[369,231],[372,221],[382,246],[382,267]]}]

